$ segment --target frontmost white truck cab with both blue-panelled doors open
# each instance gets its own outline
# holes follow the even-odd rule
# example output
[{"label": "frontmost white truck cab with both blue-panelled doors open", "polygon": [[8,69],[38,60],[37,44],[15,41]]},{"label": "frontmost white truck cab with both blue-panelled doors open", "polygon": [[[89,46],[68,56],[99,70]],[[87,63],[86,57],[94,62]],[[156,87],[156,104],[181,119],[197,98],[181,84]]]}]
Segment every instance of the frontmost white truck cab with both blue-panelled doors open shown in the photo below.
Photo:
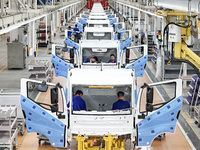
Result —
[{"label": "frontmost white truck cab with both blue-panelled doors open", "polygon": [[[137,95],[134,74],[123,69],[71,69],[66,92],[59,83],[22,79],[21,106],[27,131],[45,135],[54,147],[68,147],[68,141],[75,138],[78,150],[125,150],[127,139],[146,147],[159,134],[174,133],[182,106],[182,81],[144,84]],[[28,85],[33,83],[35,89],[29,91]],[[165,84],[172,85],[174,92],[163,103],[154,96],[154,88]],[[76,90],[83,91],[86,110],[73,110]],[[131,108],[112,110],[119,91],[125,93]]]}]

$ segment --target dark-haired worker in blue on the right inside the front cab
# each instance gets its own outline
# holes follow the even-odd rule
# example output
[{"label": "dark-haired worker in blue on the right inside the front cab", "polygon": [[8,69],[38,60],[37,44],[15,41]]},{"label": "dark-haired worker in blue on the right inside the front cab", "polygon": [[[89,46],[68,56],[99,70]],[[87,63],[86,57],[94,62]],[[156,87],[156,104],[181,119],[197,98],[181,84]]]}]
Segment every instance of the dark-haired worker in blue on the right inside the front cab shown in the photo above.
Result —
[{"label": "dark-haired worker in blue on the right inside the front cab", "polygon": [[118,96],[118,101],[116,101],[113,106],[112,106],[112,110],[121,110],[121,109],[126,109],[126,108],[130,108],[130,103],[124,100],[124,92],[119,91],[117,93]]}]

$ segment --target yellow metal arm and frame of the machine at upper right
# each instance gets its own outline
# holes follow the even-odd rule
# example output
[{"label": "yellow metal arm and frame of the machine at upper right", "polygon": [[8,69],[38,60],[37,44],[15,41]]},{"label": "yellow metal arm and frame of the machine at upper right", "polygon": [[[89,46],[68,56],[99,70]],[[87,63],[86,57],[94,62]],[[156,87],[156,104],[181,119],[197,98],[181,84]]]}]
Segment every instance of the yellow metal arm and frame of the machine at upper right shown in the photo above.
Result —
[{"label": "yellow metal arm and frame of the machine at upper right", "polygon": [[[191,16],[188,16],[187,12],[174,11],[174,10],[171,10],[171,11],[158,10],[157,15],[166,17],[167,26],[169,26],[170,24],[173,24],[180,28],[180,33],[178,32],[174,33],[174,34],[180,34],[179,35],[180,41],[174,42],[175,43],[173,47],[174,58],[187,62],[191,66],[197,68],[198,69],[197,73],[199,74],[200,57],[196,55],[191,49],[189,49],[186,44],[186,41],[191,36],[192,23],[194,23],[194,21],[193,22],[191,21],[191,17],[195,18],[197,17],[197,14],[191,14]],[[176,22],[170,22],[171,17],[176,17]],[[195,24],[197,25],[198,28],[200,27],[198,20],[195,21]],[[197,34],[199,34],[199,32]]]}]

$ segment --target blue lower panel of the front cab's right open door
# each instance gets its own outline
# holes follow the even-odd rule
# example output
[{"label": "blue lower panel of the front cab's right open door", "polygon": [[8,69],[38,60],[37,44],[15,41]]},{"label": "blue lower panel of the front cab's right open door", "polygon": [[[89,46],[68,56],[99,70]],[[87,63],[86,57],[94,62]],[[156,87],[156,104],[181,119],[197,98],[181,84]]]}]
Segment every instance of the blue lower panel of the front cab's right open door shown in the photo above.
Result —
[{"label": "blue lower panel of the front cab's right open door", "polygon": [[150,146],[155,137],[175,132],[177,114],[181,110],[182,96],[172,100],[153,114],[137,123],[138,146]]}]

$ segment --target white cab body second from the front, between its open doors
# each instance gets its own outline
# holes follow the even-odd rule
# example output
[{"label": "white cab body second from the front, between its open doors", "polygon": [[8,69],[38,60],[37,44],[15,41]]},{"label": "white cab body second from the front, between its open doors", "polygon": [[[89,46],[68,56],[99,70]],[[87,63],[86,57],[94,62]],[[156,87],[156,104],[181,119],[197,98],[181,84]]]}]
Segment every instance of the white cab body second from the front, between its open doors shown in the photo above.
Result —
[{"label": "white cab body second from the front, between its open doors", "polygon": [[[120,42],[117,40],[82,40],[80,41],[80,66],[83,69],[118,68],[120,63]],[[116,63],[108,63],[110,55],[114,54]],[[98,58],[97,63],[84,63],[88,57]]]}]

